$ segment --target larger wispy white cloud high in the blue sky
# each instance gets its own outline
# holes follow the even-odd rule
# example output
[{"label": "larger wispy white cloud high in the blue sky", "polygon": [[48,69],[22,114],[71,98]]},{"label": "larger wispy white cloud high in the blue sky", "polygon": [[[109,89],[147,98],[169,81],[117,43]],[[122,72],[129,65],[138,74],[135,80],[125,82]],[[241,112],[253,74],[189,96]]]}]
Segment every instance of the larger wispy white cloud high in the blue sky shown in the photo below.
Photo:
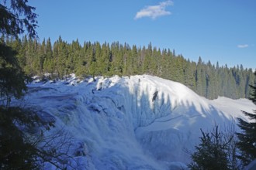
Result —
[{"label": "larger wispy white cloud high in the blue sky", "polygon": [[159,5],[146,6],[137,12],[134,19],[141,19],[143,17],[150,17],[151,19],[157,19],[159,16],[171,15],[171,12],[165,10],[166,7],[173,5],[171,0],[166,2],[160,2]]}]

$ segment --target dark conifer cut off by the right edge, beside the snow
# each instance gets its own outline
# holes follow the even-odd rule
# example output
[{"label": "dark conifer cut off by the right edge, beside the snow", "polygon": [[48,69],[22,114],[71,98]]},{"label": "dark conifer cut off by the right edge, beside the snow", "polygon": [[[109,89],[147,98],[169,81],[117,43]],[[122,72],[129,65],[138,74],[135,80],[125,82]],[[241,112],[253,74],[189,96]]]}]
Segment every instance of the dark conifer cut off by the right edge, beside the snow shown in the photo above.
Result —
[{"label": "dark conifer cut off by the right edge, beside the snow", "polygon": [[[256,71],[254,72],[256,76]],[[250,85],[252,93],[249,100],[256,105],[256,81],[254,85]],[[244,121],[241,118],[238,119],[238,126],[241,132],[237,133],[237,147],[240,149],[240,155],[238,158],[243,162],[244,165],[248,165],[252,160],[256,158],[256,110],[253,110],[254,114],[243,111],[250,121]]]}]

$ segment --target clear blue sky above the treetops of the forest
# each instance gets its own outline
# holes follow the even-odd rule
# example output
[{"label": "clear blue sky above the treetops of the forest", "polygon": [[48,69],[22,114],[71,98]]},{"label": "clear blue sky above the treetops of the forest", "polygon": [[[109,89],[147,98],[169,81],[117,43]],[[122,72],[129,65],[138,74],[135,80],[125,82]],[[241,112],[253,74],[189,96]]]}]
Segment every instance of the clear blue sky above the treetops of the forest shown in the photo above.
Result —
[{"label": "clear blue sky above the treetops of the forest", "polygon": [[256,68],[255,0],[34,0],[40,40],[127,42]]}]

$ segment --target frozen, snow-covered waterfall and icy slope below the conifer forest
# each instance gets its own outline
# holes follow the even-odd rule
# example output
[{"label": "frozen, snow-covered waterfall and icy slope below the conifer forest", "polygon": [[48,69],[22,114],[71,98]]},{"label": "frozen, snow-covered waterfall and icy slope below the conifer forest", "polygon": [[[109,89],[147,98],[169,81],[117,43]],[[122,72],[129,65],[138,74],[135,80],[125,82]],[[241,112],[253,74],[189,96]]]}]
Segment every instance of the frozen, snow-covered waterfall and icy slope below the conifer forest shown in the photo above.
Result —
[{"label": "frozen, snow-covered waterfall and icy slope below the conifer forest", "polygon": [[81,145],[80,169],[185,168],[200,128],[229,125],[243,117],[240,110],[256,109],[250,100],[207,100],[148,75],[31,83],[25,99]]}]

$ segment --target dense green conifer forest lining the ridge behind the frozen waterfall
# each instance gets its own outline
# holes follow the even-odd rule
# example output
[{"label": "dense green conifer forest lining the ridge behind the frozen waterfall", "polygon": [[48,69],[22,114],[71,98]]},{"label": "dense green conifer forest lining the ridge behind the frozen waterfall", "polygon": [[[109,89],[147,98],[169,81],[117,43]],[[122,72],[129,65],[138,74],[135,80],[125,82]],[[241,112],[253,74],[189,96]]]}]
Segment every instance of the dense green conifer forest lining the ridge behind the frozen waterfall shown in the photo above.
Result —
[{"label": "dense green conifer forest lining the ridge behind the frozen waterfall", "polygon": [[49,39],[2,37],[16,49],[19,65],[29,76],[50,73],[51,79],[63,79],[70,73],[77,76],[130,76],[150,74],[178,81],[200,96],[216,99],[218,96],[233,99],[249,97],[249,85],[254,82],[253,70],[242,65],[232,68],[197,62],[176,55],[175,50],[148,46],[130,46],[126,43],[84,42],[71,43],[59,39],[53,44]]}]

